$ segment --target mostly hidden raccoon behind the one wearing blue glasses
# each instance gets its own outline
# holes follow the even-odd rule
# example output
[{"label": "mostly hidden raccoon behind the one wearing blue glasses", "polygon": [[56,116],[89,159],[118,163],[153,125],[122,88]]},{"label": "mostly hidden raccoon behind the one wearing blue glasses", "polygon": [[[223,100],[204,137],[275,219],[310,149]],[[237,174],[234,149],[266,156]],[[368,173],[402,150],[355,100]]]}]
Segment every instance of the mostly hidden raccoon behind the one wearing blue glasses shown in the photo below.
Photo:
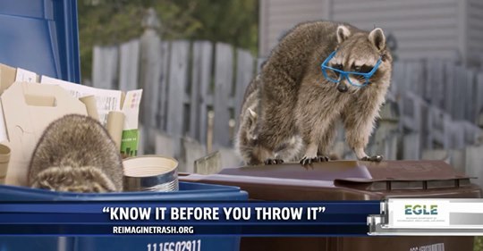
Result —
[{"label": "mostly hidden raccoon behind the one wearing blue glasses", "polygon": [[[260,163],[258,144],[258,108],[259,108],[259,85],[260,76],[256,76],[250,82],[244,96],[242,113],[240,114],[240,127],[235,138],[235,150],[242,157],[245,164],[254,165]],[[290,162],[297,157],[302,148],[301,137],[293,136],[284,144],[274,149],[275,159],[267,159],[269,163]]]}]

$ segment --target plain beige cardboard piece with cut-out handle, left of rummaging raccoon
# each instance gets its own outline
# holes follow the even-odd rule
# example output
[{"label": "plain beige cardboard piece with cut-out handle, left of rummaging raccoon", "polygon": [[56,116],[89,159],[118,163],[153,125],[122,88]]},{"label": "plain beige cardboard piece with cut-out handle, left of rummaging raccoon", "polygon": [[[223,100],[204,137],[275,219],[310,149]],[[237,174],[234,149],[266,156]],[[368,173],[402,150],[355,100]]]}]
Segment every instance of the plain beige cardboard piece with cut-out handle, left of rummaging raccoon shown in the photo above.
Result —
[{"label": "plain beige cardboard piece with cut-out handle, left of rummaging raccoon", "polygon": [[87,115],[86,106],[63,88],[15,82],[0,97],[11,159],[5,183],[27,186],[31,155],[47,126],[70,113]]}]

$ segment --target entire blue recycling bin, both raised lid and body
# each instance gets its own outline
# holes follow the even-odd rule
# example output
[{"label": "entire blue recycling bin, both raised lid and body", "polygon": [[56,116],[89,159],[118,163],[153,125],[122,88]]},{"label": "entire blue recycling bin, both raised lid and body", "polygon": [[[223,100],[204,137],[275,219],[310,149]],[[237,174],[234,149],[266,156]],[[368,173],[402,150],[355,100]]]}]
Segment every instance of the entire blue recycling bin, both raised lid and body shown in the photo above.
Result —
[{"label": "entire blue recycling bin, both raised lid and body", "polygon": [[[0,3],[0,63],[80,83],[77,1],[2,0]],[[180,190],[176,192],[108,194],[60,193],[0,186],[0,201],[240,201],[247,199],[247,193],[240,188],[186,182],[180,182]],[[158,251],[159,249],[156,248],[159,244],[182,241],[200,241],[202,243],[200,250],[239,250],[240,238],[1,237],[0,251]]]}]

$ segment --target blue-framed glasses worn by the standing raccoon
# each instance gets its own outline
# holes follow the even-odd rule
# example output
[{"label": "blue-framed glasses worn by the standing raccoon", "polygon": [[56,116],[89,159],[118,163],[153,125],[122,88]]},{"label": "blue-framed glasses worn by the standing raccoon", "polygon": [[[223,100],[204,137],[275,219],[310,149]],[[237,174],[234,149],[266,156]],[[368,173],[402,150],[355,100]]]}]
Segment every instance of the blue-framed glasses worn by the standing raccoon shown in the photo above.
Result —
[{"label": "blue-framed glasses worn by the standing raccoon", "polygon": [[[377,68],[379,67],[379,64],[381,64],[382,62],[381,57],[379,57],[376,65],[374,65],[374,68],[372,68],[372,70],[369,72],[342,71],[327,65],[327,63],[329,63],[329,61],[335,56],[336,52],[337,51],[335,50],[333,53],[329,54],[326,60],[324,60],[324,62],[320,64],[320,67],[322,67],[322,73],[324,74],[324,77],[327,80],[335,83],[338,83],[345,78],[347,79],[347,81],[349,81],[349,83],[351,83],[352,86],[359,87],[359,88],[364,87],[369,84],[369,79],[372,77],[372,75],[374,75],[374,73],[377,71]],[[358,82],[353,83],[351,81],[351,78],[357,79],[359,83]]]}]

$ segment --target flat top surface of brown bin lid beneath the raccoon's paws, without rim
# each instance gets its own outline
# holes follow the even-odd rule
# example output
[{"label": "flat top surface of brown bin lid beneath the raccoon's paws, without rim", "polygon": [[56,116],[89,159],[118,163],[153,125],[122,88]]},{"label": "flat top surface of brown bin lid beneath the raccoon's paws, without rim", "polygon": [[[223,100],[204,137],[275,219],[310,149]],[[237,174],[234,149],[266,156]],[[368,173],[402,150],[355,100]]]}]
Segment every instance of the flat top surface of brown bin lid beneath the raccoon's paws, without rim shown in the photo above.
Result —
[{"label": "flat top surface of brown bin lid beneath the raccoon's paws, without rim", "polygon": [[224,169],[219,174],[301,180],[339,180],[375,182],[387,180],[459,180],[470,179],[442,161],[333,161],[313,163],[307,169],[299,163],[245,166]]}]

